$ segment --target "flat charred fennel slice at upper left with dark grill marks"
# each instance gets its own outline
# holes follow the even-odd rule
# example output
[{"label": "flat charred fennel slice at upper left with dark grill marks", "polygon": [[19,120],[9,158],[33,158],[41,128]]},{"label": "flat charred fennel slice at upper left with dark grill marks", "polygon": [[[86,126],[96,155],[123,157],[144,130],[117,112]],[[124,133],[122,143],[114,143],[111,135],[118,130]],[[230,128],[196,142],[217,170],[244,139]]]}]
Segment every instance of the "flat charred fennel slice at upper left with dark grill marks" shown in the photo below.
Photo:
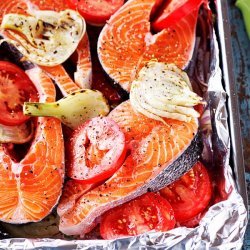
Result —
[{"label": "flat charred fennel slice at upper left with dark grill marks", "polygon": [[35,10],[30,14],[4,15],[1,29],[8,31],[8,37],[1,42],[13,44],[38,65],[55,66],[65,62],[85,34],[84,19],[73,10]]}]

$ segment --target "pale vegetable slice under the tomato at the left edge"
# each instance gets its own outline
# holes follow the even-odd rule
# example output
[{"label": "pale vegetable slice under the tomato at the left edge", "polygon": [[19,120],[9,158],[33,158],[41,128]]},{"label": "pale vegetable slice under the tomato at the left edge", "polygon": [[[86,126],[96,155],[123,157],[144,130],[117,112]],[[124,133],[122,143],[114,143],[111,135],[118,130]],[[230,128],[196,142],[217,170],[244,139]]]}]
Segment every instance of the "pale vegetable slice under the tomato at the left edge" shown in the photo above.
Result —
[{"label": "pale vegetable slice under the tomato at the left edge", "polygon": [[33,137],[32,123],[24,123],[18,126],[5,126],[0,124],[0,143],[23,144]]}]

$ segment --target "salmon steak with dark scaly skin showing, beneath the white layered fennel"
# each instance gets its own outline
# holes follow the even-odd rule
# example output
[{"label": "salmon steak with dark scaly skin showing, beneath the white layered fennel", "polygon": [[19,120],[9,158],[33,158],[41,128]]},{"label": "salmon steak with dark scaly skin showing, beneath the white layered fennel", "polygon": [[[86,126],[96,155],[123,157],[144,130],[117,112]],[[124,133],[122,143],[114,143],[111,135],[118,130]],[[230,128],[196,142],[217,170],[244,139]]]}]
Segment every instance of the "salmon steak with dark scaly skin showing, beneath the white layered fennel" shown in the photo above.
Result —
[{"label": "salmon steak with dark scaly skin showing, beneath the white layered fennel", "polygon": [[[198,121],[165,119],[167,125],[136,113],[129,101],[109,115],[125,134],[130,154],[104,184],[87,192],[60,218],[68,235],[89,232],[109,209],[148,191],[160,189],[190,169],[200,155]],[[162,180],[162,177],[165,177]]]}]

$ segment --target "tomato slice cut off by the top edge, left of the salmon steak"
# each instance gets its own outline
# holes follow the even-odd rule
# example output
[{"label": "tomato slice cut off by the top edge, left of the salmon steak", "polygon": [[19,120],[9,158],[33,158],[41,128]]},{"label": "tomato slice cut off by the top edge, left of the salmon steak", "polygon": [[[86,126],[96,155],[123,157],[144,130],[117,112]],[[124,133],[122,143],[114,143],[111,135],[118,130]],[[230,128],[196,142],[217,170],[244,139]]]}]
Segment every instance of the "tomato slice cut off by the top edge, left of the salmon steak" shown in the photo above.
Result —
[{"label": "tomato slice cut off by the top edge, left of the salmon steak", "polygon": [[77,9],[92,25],[104,25],[123,4],[124,0],[66,0],[68,6]]}]

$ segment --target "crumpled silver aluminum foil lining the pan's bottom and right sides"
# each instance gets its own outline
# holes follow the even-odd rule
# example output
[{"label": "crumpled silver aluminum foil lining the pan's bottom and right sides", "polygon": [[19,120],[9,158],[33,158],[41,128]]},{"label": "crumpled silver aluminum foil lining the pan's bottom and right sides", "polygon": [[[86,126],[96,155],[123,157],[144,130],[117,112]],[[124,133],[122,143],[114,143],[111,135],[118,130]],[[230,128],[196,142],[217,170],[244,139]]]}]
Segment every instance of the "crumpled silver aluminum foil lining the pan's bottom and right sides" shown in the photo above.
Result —
[{"label": "crumpled silver aluminum foil lining the pan's bottom and right sides", "polygon": [[[165,233],[149,232],[117,240],[61,240],[12,238],[0,241],[0,249],[241,249],[247,226],[247,211],[239,195],[229,165],[230,137],[226,98],[219,67],[219,49],[214,33],[214,60],[206,99],[211,131],[205,135],[203,158],[215,157],[223,166],[227,200],[209,208],[196,228],[178,227]],[[207,126],[207,124],[206,124]],[[215,151],[215,153],[213,152]]]}]

